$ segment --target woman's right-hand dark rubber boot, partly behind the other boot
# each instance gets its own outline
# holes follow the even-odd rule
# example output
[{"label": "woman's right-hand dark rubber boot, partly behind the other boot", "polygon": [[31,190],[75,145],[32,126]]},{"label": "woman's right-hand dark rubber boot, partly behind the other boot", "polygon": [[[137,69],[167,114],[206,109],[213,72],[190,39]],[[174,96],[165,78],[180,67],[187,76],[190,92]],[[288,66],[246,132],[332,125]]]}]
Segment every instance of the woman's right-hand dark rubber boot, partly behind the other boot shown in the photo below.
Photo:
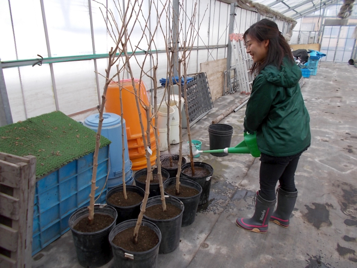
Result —
[{"label": "woman's right-hand dark rubber boot, partly behind the other boot", "polygon": [[276,210],[270,217],[270,222],[276,223],[284,228],[289,227],[291,212],[293,212],[297,190],[294,192],[284,191],[281,187],[277,189]]}]

